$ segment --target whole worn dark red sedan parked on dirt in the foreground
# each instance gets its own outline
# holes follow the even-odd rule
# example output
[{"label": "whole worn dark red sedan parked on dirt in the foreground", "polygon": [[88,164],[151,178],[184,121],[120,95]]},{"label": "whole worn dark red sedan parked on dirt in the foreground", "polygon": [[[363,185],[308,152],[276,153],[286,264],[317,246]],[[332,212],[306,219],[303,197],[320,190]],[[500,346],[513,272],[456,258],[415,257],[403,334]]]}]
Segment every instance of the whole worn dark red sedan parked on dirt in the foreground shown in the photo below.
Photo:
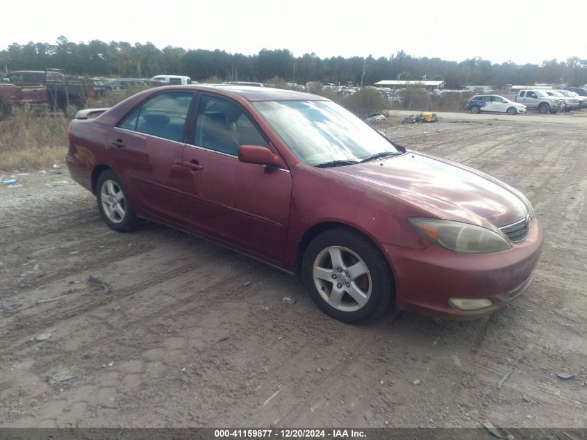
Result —
[{"label": "whole worn dark red sedan parked on dirt in the foreground", "polygon": [[69,172],[115,231],[148,219],[228,245],[301,274],[349,323],[482,316],[529,286],[543,245],[517,190],[315,95],[155,88],[81,111],[68,137]]}]

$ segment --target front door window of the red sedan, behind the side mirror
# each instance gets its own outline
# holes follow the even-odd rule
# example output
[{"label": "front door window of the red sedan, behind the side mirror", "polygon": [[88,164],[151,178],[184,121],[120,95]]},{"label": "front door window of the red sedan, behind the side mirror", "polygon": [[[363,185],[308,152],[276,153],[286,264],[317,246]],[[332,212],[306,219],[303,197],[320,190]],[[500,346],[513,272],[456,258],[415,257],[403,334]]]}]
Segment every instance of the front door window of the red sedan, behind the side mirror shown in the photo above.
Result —
[{"label": "front door window of the red sedan, behind the side mirror", "polygon": [[240,106],[209,96],[199,104],[195,145],[231,156],[238,156],[240,145],[269,146]]}]

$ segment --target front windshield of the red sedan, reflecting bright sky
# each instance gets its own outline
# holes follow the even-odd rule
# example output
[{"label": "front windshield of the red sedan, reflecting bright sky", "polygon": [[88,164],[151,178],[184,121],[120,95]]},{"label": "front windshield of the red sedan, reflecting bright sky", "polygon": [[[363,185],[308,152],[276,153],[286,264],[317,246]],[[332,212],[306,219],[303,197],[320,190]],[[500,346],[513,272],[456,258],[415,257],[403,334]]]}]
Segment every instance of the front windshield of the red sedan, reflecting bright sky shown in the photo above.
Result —
[{"label": "front windshield of the red sedan, reflecting bright sky", "polygon": [[331,101],[263,101],[253,105],[293,154],[308,165],[358,162],[378,153],[403,152]]}]

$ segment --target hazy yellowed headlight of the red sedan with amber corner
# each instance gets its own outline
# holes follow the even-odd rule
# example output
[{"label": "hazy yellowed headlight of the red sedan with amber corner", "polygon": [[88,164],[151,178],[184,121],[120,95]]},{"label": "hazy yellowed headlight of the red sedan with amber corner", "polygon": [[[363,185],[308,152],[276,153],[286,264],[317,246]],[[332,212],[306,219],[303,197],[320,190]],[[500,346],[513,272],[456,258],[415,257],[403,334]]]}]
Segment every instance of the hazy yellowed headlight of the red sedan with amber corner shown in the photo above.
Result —
[{"label": "hazy yellowed headlight of the red sedan with amber corner", "polygon": [[511,248],[504,236],[484,227],[453,220],[408,218],[410,225],[433,243],[464,254],[488,254]]}]

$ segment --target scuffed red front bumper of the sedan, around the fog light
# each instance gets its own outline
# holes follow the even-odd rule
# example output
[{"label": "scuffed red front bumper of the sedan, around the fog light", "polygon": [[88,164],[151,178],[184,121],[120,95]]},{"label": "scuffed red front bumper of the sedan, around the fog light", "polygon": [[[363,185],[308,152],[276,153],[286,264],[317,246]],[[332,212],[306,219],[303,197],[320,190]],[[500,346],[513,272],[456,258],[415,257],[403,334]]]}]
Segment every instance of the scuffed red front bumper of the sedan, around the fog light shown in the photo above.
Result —
[{"label": "scuffed red front bumper of the sedan, around the fog light", "polygon": [[[510,250],[493,254],[459,254],[431,245],[412,250],[382,245],[395,275],[398,309],[446,318],[469,319],[491,313],[530,285],[543,246],[536,218],[529,234]],[[452,307],[449,298],[488,298],[493,305],[475,311]]]}]

